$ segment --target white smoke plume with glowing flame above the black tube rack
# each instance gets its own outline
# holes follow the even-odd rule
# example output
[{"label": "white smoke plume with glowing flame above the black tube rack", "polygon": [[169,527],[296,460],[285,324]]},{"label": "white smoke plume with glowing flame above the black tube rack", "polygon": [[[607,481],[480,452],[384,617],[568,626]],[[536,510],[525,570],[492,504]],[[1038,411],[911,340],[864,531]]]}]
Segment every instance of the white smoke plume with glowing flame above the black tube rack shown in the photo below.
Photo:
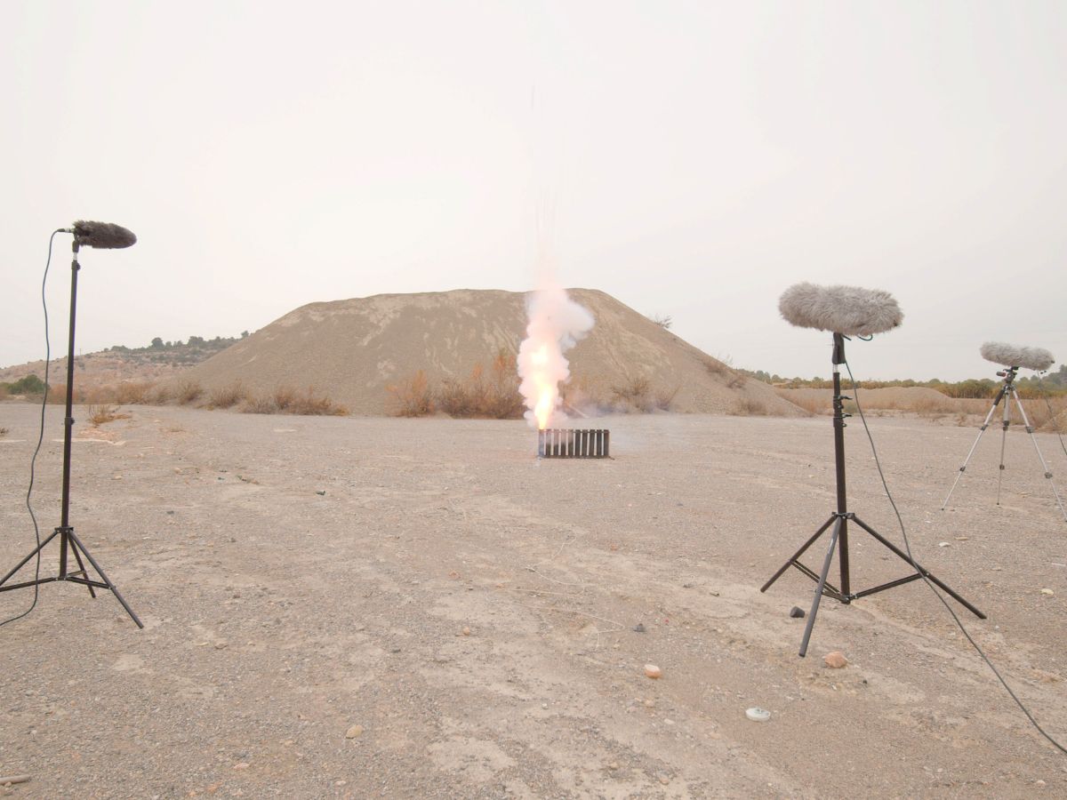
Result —
[{"label": "white smoke plume with glowing flame above the black tube rack", "polygon": [[526,311],[529,324],[519,347],[519,393],[526,402],[524,416],[530,426],[552,428],[567,419],[559,396],[559,385],[571,377],[564,353],[585,338],[595,320],[555,284],[531,292]]}]

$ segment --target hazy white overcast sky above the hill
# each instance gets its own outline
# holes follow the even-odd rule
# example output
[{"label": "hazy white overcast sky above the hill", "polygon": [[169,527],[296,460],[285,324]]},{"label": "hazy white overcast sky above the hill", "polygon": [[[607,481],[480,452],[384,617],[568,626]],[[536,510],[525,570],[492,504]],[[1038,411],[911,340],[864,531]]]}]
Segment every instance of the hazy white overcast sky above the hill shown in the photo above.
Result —
[{"label": "hazy white overcast sky above the hill", "polygon": [[[0,3],[0,365],[44,355],[51,230],[79,348],[304,303],[525,290],[539,227],[737,366],[829,372],[798,281],[893,292],[860,378],[1067,361],[1067,3]],[[65,352],[69,237],[49,279]]]}]

